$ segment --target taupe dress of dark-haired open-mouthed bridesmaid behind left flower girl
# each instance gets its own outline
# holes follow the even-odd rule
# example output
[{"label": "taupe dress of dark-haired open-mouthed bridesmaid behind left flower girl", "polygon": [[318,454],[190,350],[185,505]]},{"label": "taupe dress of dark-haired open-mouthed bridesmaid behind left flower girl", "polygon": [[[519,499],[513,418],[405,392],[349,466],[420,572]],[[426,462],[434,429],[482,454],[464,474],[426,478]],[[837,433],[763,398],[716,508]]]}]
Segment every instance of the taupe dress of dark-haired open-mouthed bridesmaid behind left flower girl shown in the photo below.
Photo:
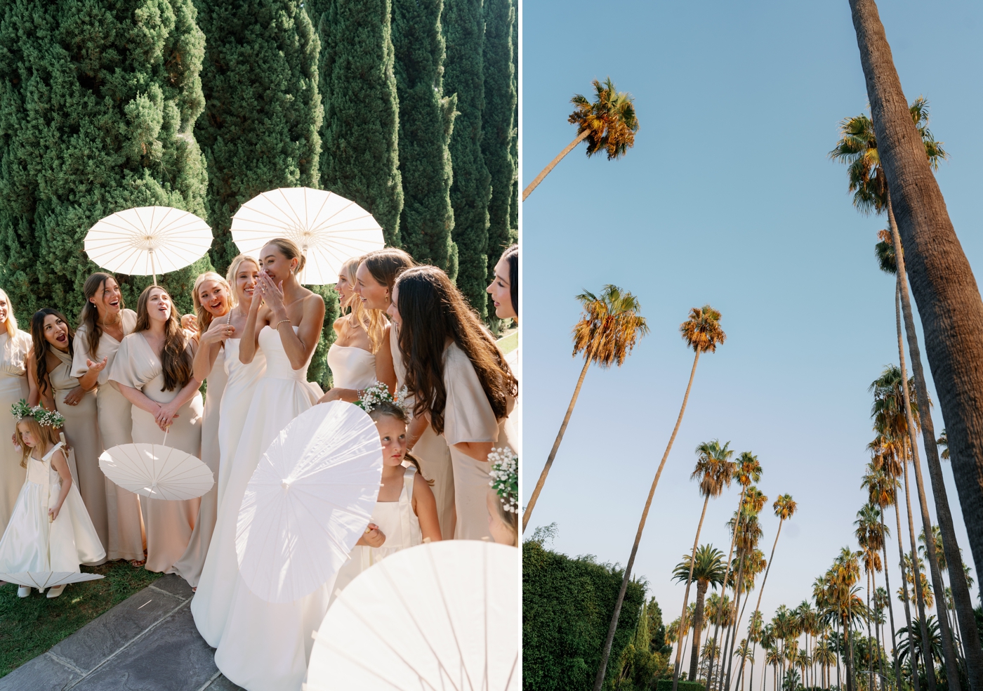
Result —
[{"label": "taupe dress of dark-haired open-mouthed bridesmaid behind left flower girl", "polygon": [[57,348],[51,348],[50,352],[61,363],[48,373],[48,381],[54,389],[55,408],[65,416],[63,432],[75,456],[74,480],[86,504],[95,534],[105,549],[109,544],[109,519],[106,515],[106,476],[99,469],[102,440],[99,438],[95,390],[87,391],[77,405],[67,405],[65,397],[79,385],[79,379],[72,376],[72,356]]}]

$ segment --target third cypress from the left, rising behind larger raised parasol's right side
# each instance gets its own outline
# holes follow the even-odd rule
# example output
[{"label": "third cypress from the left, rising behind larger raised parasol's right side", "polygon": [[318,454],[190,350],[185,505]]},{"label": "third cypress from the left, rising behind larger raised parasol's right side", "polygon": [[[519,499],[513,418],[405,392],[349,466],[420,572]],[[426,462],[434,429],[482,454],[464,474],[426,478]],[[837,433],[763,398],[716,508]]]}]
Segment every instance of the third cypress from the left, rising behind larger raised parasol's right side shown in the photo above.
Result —
[{"label": "third cypress from the left, rising behind larger raised parasol's right side", "polygon": [[312,8],[318,10],[321,186],[371,212],[386,245],[399,247],[403,188],[391,0],[327,0]]}]

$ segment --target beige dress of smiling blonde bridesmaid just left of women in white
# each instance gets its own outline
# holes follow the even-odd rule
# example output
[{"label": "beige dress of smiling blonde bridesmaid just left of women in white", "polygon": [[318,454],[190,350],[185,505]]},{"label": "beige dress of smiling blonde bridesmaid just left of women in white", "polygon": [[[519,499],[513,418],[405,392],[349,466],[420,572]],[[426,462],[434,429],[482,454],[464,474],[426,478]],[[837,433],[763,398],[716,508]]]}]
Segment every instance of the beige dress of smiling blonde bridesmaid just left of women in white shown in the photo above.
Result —
[{"label": "beige dress of smiling blonde bridesmaid just left of women in white", "polygon": [[218,349],[215,363],[208,373],[207,388],[204,392],[204,419],[202,420],[202,461],[215,476],[215,484],[202,496],[202,505],[195,521],[195,530],[184,555],[174,564],[174,571],[188,581],[192,588],[198,587],[202,578],[204,556],[208,553],[211,534],[215,531],[218,517],[218,410],[225,393],[228,374],[225,374],[225,348]]}]

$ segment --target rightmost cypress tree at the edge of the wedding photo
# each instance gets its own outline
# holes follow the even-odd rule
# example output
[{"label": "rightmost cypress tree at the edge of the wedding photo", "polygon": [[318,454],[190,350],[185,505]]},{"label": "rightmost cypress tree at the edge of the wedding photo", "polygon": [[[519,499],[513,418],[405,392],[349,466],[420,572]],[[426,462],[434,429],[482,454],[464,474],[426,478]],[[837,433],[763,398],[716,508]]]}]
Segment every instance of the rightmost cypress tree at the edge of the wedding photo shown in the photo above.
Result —
[{"label": "rightmost cypress tree at the edge of the wedding photo", "polygon": [[[492,177],[489,201],[488,271],[485,284],[494,278],[494,265],[502,250],[515,242],[511,223],[512,188],[516,181],[512,141],[515,138],[515,72],[512,65],[512,0],[485,0],[485,113],[482,116],[482,152]],[[494,315],[488,296],[489,316]]]}]

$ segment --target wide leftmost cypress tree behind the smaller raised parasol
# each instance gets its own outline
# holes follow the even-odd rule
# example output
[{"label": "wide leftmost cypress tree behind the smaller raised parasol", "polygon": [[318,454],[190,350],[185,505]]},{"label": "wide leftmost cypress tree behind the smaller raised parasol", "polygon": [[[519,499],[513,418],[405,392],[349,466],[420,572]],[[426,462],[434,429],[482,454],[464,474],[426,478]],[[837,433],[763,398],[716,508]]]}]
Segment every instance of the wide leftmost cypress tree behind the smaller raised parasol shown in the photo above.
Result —
[{"label": "wide leftmost cypress tree behind the smaller raised parasol", "polygon": [[[192,0],[5,0],[0,46],[0,285],[19,317],[74,316],[93,223],[154,204],[205,216],[204,35]],[[208,265],[160,280],[180,309]],[[120,278],[136,305],[149,276]]]}]

